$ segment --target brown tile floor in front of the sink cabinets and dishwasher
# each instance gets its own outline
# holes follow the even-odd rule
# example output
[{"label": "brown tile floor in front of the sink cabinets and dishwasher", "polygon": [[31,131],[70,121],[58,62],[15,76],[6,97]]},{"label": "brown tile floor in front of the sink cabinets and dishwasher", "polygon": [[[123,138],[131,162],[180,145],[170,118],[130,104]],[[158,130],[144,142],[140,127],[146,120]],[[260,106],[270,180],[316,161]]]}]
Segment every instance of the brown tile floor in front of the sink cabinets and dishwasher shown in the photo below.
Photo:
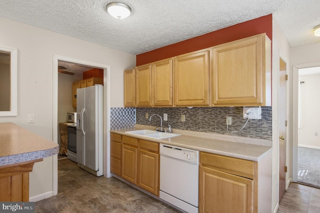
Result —
[{"label": "brown tile floor in front of the sink cabinets and dishwasher", "polygon": [[180,212],[115,177],[96,177],[58,160],[58,194],[35,202],[35,212]]}]

